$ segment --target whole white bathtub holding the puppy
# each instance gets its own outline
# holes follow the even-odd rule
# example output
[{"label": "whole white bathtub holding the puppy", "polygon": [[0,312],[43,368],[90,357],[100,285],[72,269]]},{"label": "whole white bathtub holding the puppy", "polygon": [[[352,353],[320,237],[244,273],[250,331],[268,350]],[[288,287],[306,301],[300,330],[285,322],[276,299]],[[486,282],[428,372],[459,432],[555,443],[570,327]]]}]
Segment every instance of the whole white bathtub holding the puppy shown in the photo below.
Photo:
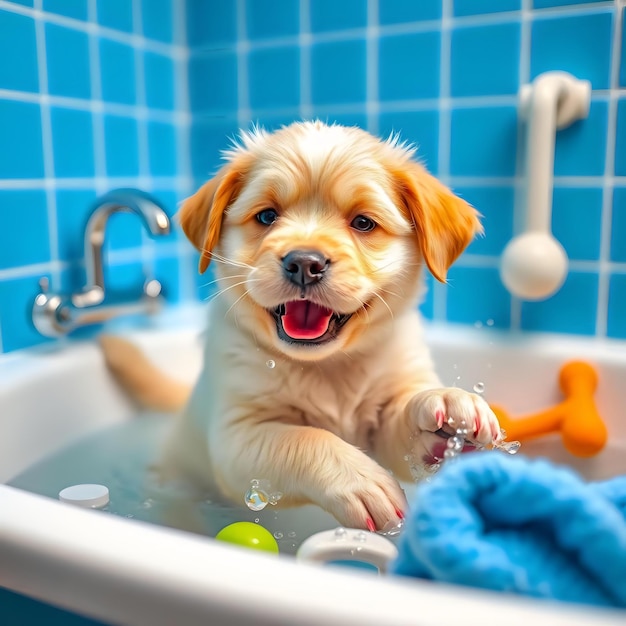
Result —
[{"label": "whole white bathtub holding the puppy", "polygon": [[[192,379],[199,367],[198,309],[168,313],[136,333],[151,356]],[[500,335],[432,327],[447,384],[485,385],[512,414],[559,399],[570,358],[594,363],[607,449],[576,462],[590,478],[626,473],[626,345],[570,337]],[[458,380],[457,377],[461,377]],[[0,358],[0,482],[135,408],[109,378],[95,345]],[[524,446],[526,451],[533,446]],[[556,439],[534,446],[573,462]],[[113,624],[623,624],[624,612],[541,603],[423,581],[374,577],[296,563],[212,539],[87,511],[0,485],[0,586]]]}]

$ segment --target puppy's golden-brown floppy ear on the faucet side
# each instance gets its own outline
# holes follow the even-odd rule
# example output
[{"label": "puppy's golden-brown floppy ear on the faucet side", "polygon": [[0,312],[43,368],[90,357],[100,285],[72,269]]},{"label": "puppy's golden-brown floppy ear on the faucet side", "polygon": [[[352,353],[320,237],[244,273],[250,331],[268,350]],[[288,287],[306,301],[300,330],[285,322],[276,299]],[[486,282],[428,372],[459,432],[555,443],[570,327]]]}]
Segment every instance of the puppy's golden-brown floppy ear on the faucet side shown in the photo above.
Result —
[{"label": "puppy's golden-brown floppy ear on the faucet side", "polygon": [[239,193],[246,171],[229,163],[183,203],[178,220],[191,243],[200,251],[198,269],[204,273],[222,230],[224,212]]}]

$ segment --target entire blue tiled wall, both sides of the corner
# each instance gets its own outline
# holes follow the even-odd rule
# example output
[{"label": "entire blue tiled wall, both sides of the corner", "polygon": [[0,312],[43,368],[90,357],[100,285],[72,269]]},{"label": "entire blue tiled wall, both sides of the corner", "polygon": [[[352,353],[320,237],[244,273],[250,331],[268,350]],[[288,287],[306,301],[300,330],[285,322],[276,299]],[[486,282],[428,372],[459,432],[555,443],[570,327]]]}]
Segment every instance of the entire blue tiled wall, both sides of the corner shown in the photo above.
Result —
[{"label": "entire blue tiled wall, both sides of the corner", "polygon": [[[43,341],[24,314],[42,274],[56,285],[82,280],[82,229],[97,195],[140,186],[173,214],[238,128],[312,116],[400,132],[482,213],[485,237],[449,284],[427,279],[424,315],[626,338],[623,3],[522,4],[186,0],[183,14],[177,0],[2,3],[0,56],[15,63],[0,64],[0,136],[12,147],[0,153],[0,215],[28,206],[5,217],[13,231],[37,219],[33,246],[18,250],[2,231],[0,294],[16,301],[0,300],[2,350]],[[589,118],[559,131],[555,147],[552,226],[571,272],[553,298],[519,303],[498,274],[523,222],[517,92],[549,70],[593,89]],[[132,216],[118,217],[107,244],[116,280],[138,280],[149,245],[173,301],[198,295],[176,286],[195,272],[184,237],[147,243]]]}]

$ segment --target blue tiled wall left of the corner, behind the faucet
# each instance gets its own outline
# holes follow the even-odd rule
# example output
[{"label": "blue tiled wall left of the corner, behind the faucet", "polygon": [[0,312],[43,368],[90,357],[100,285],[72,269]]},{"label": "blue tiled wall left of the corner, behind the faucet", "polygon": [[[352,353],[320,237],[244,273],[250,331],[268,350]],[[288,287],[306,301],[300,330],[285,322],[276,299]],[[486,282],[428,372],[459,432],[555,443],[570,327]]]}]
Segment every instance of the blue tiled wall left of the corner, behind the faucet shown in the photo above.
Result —
[{"label": "blue tiled wall left of the corner, behind the faucet", "polygon": [[[84,229],[99,195],[139,187],[173,215],[192,190],[180,150],[189,114],[187,94],[176,90],[188,54],[178,7],[2,3],[0,57],[11,62],[0,63],[0,351],[49,341],[30,316],[39,279],[82,288]],[[146,268],[172,302],[194,297],[181,291],[190,278],[179,262],[193,251],[176,234],[152,243],[135,216],[116,215],[105,247],[107,275],[125,277],[135,295]]]}]

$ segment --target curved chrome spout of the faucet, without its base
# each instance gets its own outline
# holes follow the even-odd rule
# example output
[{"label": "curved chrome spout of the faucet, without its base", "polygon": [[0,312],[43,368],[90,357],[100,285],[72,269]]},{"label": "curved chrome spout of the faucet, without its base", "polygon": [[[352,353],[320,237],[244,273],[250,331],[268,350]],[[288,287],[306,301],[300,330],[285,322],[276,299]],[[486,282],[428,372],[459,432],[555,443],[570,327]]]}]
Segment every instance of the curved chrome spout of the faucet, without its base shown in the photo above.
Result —
[{"label": "curved chrome spout of the faucet, without its base", "polygon": [[104,300],[104,259],[102,248],[109,218],[115,213],[134,213],[152,237],[167,235],[170,220],[148,194],[138,189],[114,189],[96,200],[85,229],[85,274],[87,284],[82,292],[72,295],[76,308],[101,304]]}]

